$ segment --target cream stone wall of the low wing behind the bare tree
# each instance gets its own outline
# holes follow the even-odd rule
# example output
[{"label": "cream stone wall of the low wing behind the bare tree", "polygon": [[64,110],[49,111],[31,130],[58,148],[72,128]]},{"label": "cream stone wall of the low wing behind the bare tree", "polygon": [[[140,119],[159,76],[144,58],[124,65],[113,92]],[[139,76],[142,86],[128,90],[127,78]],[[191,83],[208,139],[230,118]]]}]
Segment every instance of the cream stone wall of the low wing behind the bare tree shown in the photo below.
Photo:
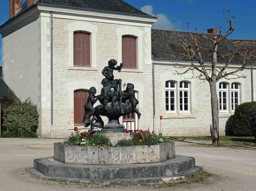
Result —
[{"label": "cream stone wall of the low wing behind the bare tree", "polygon": [[[211,124],[211,96],[210,87],[207,81],[202,82],[199,79],[190,79],[192,73],[186,75],[174,75],[175,70],[178,72],[183,71],[182,68],[174,68],[173,66],[167,65],[155,65],[155,101],[156,101],[156,131],[160,130],[160,115],[163,116],[161,129],[163,134],[172,135],[210,135],[210,124]],[[226,71],[233,71],[234,69],[227,69]],[[197,72],[194,72],[195,76]],[[242,97],[241,102],[251,101],[251,74],[250,70],[244,70],[238,74],[247,76],[245,79],[233,79],[225,80],[222,79],[219,82],[241,83]],[[190,81],[191,97],[194,96],[194,104],[191,104],[191,110],[189,113],[167,113],[165,109],[165,100],[162,98],[162,84],[165,85],[165,81],[161,82],[162,76],[169,76],[168,80],[174,81]],[[218,83],[217,82],[217,94],[218,94]],[[193,86],[195,91],[193,91]],[[230,88],[231,90],[231,88]],[[228,93],[231,97],[231,93]],[[192,100],[193,101],[193,100]],[[230,101],[231,102],[231,101]],[[229,103],[230,105],[230,103]],[[230,116],[233,115],[232,111],[220,112],[220,135],[225,135],[225,127],[230,123]]]}]

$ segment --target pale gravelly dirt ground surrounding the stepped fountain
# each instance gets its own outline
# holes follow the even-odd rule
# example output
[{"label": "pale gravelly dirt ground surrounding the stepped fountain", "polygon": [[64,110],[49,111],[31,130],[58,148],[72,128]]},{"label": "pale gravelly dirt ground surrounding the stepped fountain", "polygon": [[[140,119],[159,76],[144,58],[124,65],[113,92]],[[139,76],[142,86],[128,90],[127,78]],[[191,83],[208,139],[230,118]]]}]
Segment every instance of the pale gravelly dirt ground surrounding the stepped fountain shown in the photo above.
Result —
[{"label": "pale gravelly dirt ground surrounding the stepped fountain", "polygon": [[256,190],[256,147],[215,147],[209,141],[175,141],[176,154],[193,156],[197,166],[214,175],[206,181],[191,184],[102,186],[38,179],[27,168],[33,160],[53,156],[53,143],[62,139],[0,138],[0,191],[252,191]]}]

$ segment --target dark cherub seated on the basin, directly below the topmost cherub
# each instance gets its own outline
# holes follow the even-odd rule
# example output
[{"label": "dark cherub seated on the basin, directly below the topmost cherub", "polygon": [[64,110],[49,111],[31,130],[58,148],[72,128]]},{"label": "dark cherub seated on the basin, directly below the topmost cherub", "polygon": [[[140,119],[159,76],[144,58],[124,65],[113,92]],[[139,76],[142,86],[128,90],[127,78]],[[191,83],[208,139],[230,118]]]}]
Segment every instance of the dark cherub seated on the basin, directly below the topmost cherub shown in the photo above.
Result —
[{"label": "dark cherub seated on the basin, directly below the topmost cherub", "polygon": [[103,105],[104,105],[104,108],[107,109],[108,99],[112,98],[111,105],[114,106],[118,98],[118,94],[116,92],[111,91],[111,88],[115,88],[116,85],[109,85],[109,80],[107,78],[104,78],[101,84],[103,85],[103,88],[101,88],[100,96],[101,98],[103,97]]}]

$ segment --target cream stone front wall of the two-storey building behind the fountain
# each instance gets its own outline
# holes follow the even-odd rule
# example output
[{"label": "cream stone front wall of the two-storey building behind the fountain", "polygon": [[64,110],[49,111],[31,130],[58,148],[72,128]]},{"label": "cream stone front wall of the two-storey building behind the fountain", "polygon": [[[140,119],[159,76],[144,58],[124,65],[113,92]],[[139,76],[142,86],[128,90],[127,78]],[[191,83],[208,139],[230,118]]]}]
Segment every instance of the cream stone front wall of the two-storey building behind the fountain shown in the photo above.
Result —
[{"label": "cream stone front wall of the two-storey building behind the fountain", "polygon": [[[132,31],[138,29],[142,31],[142,68],[140,69],[123,69],[122,72],[114,71],[115,79],[122,79],[126,83],[134,83],[135,91],[138,91],[139,111],[142,113],[140,120],[137,120],[137,128],[153,129],[153,94],[152,94],[152,65],[148,61],[148,55],[151,55],[151,41],[148,38],[149,27],[136,27],[121,24],[109,24],[99,22],[87,22],[97,28],[96,33],[96,67],[70,67],[70,35],[68,24],[77,23],[78,20],[53,19],[53,127],[54,137],[67,137],[70,131],[74,129],[74,103],[73,90],[89,89],[94,86],[97,94],[100,94],[102,85],[101,80],[104,76],[101,74],[102,69],[107,66],[109,59],[118,60],[118,35],[117,29],[127,27]],[[48,29],[50,23],[48,23]],[[149,36],[149,37],[148,37]],[[48,35],[48,39],[50,36]],[[150,52],[146,50],[150,47]],[[145,51],[146,50],[146,51]],[[50,47],[48,48],[50,52]],[[140,56],[140,57],[141,57]],[[139,55],[138,55],[139,57]],[[147,64],[146,64],[147,63]],[[150,63],[150,64],[149,64]],[[120,63],[118,63],[119,65]],[[50,100],[48,99],[48,103]],[[96,103],[99,104],[99,103]],[[50,120],[50,112],[45,115],[45,119]],[[121,119],[121,118],[120,118]],[[105,123],[106,117],[103,117]],[[83,127],[83,126],[78,126]],[[46,123],[42,127],[42,136],[50,136],[50,126]]]}]

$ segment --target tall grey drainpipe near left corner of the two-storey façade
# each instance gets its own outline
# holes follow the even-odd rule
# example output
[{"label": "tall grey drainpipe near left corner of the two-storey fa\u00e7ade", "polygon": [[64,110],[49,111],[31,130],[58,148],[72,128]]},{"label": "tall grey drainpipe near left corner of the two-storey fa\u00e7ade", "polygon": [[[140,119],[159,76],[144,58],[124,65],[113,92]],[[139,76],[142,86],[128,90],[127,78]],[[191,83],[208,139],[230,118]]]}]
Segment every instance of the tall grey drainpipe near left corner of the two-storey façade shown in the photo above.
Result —
[{"label": "tall grey drainpipe near left corner of the two-storey fa\u00e7ade", "polygon": [[50,83],[51,83],[51,124],[50,137],[53,138],[53,12],[50,12]]}]

